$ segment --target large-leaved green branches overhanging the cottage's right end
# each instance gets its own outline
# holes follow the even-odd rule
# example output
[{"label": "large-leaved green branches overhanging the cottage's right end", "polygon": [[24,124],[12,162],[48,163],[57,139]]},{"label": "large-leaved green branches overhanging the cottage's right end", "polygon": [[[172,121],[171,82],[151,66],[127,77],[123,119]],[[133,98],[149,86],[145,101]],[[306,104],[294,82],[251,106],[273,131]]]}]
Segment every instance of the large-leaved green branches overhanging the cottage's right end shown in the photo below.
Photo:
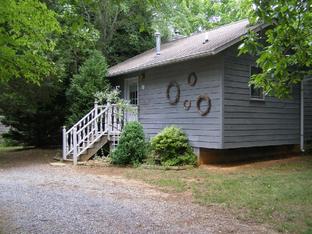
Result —
[{"label": "large-leaved green branches overhanging the cottage's right end", "polygon": [[291,98],[292,83],[312,74],[312,0],[244,0],[253,10],[250,22],[265,22],[265,37],[250,31],[241,53],[259,56],[263,73],[253,76],[255,87],[276,97]]}]

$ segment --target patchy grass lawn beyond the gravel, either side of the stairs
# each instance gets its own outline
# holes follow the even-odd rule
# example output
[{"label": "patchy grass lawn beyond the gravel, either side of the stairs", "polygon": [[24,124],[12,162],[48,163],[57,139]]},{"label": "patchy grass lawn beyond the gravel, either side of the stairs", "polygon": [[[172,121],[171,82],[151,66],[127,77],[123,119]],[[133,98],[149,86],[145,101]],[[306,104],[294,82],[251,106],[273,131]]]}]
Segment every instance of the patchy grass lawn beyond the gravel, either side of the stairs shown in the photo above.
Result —
[{"label": "patchy grass lawn beyond the gravel, either side of the stairs", "polygon": [[[0,169],[18,163],[47,163],[57,149],[1,149]],[[79,166],[78,166],[79,167]],[[188,193],[201,206],[217,204],[242,221],[268,222],[276,230],[312,234],[312,156],[253,163],[202,165],[175,171],[144,168],[95,168],[152,184],[165,193]]]}]

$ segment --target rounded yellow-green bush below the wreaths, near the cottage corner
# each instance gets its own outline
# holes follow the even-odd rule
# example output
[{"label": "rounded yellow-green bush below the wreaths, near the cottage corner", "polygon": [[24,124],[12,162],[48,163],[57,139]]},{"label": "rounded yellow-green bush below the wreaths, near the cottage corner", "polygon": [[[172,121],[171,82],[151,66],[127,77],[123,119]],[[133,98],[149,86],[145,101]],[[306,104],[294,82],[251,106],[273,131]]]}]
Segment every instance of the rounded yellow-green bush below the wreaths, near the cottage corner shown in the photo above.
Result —
[{"label": "rounded yellow-green bush below the wreaths, near the cottage corner", "polygon": [[155,152],[164,166],[196,164],[196,155],[188,146],[187,136],[180,128],[166,127],[151,139],[150,149]]}]

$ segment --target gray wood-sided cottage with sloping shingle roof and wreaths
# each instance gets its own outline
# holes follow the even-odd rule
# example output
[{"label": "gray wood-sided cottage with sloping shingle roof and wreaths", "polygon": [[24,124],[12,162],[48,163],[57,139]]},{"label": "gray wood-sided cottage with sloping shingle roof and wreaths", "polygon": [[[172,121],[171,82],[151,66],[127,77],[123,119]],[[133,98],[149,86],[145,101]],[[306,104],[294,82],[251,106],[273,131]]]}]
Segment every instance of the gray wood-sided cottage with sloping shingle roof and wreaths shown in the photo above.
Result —
[{"label": "gray wood-sided cottage with sloping shingle roof and wreaths", "polygon": [[261,69],[256,58],[237,57],[241,36],[268,26],[248,23],[240,20],[157,44],[109,68],[107,78],[120,86],[123,98],[139,105],[138,120],[147,136],[173,124],[181,127],[199,163],[290,152],[311,143],[308,82],[302,95],[300,84],[293,85],[292,99],[268,97],[248,85]]}]

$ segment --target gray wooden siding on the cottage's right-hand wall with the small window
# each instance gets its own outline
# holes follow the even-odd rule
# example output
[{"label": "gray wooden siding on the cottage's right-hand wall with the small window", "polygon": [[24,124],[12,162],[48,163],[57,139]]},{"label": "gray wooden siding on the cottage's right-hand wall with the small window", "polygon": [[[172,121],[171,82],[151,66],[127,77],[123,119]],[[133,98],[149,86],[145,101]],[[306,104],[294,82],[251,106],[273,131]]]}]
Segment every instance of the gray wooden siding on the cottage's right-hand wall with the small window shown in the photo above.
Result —
[{"label": "gray wooden siding on the cottage's right-hand wall with the small window", "polygon": [[251,101],[248,82],[254,58],[237,58],[237,46],[223,54],[223,148],[299,144],[300,85],[293,86],[293,99],[266,96],[265,101]]}]

